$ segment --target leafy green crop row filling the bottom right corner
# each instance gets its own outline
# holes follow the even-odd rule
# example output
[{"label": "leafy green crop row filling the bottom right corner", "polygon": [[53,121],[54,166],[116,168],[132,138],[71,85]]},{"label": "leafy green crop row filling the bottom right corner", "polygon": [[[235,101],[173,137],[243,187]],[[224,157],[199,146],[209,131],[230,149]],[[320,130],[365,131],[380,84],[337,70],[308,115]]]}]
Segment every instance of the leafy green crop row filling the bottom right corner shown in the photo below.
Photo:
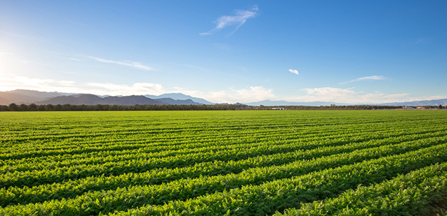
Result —
[{"label": "leafy green crop row filling the bottom right corner", "polygon": [[[446,213],[447,163],[348,190],[336,198],[305,203],[280,215],[434,215]],[[428,204],[428,205],[427,205]]]}]

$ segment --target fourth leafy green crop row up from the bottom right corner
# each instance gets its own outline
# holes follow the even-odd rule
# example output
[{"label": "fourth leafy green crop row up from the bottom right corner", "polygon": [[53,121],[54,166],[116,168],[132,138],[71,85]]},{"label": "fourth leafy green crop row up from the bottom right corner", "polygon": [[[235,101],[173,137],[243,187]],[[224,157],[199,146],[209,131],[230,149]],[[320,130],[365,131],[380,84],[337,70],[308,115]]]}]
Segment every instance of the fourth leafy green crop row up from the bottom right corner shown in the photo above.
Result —
[{"label": "fourth leafy green crop row up from the bottom right corner", "polygon": [[[193,167],[163,170],[155,169],[145,173],[124,173],[119,176],[91,176],[78,180],[68,180],[62,183],[38,185],[35,187],[9,187],[8,190],[6,190],[6,188],[2,188],[0,189],[0,197],[3,197],[3,200],[1,201],[0,205],[8,206],[13,203],[41,202],[47,200],[49,197],[52,199],[58,199],[57,197],[69,198],[92,190],[112,190],[117,187],[129,187],[131,185],[154,185],[168,183],[181,178],[198,178],[199,176],[216,176],[227,173],[240,173],[241,171],[247,171],[247,169],[250,168],[269,167],[272,165],[279,166],[296,160],[309,160],[315,157],[323,157],[325,155],[330,156],[323,159],[319,158],[314,160],[336,161],[335,159],[342,160],[341,157],[346,157],[349,158],[349,160],[344,161],[345,163],[350,161],[355,162],[369,157],[376,158],[380,155],[403,153],[404,151],[411,151],[424,146],[432,146],[434,144],[443,143],[447,140],[444,138],[425,139],[421,141],[424,143],[420,144],[420,141],[413,141],[402,144],[383,145],[378,142],[369,142],[367,144],[350,146],[330,146],[325,148],[317,148],[310,151],[295,151],[291,153],[279,153],[276,155],[260,155],[258,157],[250,157],[247,160],[240,161],[203,162],[200,164],[195,164]],[[369,149],[360,151],[360,149],[363,148]],[[349,153],[351,151],[353,152]],[[371,153],[374,151],[376,151],[376,153],[374,155],[369,155],[369,157],[362,155],[362,153]],[[360,156],[357,158],[351,158],[351,155]],[[326,167],[334,165],[337,164],[326,164]],[[61,196],[60,194],[66,195]]]}]

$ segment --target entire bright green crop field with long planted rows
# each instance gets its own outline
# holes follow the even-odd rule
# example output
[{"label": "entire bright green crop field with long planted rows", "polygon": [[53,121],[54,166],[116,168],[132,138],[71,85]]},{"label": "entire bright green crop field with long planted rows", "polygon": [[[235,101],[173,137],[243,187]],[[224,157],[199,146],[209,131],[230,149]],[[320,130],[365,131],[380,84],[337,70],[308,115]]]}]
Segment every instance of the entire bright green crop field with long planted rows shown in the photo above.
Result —
[{"label": "entire bright green crop field with long planted rows", "polygon": [[447,111],[0,112],[0,215],[437,215]]}]

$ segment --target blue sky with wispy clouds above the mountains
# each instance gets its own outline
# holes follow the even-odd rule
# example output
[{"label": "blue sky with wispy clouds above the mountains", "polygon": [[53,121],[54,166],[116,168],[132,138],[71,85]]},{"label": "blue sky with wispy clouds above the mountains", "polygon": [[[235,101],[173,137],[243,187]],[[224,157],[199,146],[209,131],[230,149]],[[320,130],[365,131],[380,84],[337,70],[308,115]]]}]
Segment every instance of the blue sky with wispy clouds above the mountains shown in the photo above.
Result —
[{"label": "blue sky with wispy clouds above the mountains", "polygon": [[447,1],[0,0],[0,91],[447,98]]}]

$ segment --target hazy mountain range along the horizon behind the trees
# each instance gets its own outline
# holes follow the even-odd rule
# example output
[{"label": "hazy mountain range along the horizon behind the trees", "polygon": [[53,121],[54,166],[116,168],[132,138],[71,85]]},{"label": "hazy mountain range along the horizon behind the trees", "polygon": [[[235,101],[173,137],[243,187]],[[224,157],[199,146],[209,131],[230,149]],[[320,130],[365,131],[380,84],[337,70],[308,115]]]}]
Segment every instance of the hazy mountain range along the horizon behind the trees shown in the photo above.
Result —
[{"label": "hazy mountain range along the horizon behind the trees", "polygon": [[[17,89],[0,91],[0,105],[15,103],[36,105],[214,105],[203,98],[195,98],[182,93],[167,93],[162,95],[131,95],[131,96],[101,96],[92,94],[60,93]],[[335,102],[287,102],[284,100],[262,100],[245,102],[251,106],[329,106],[349,105]],[[377,105],[377,104],[376,104]],[[447,107],[447,98],[440,100],[418,100],[411,102],[388,102],[379,105],[386,106],[439,106]]]}]

